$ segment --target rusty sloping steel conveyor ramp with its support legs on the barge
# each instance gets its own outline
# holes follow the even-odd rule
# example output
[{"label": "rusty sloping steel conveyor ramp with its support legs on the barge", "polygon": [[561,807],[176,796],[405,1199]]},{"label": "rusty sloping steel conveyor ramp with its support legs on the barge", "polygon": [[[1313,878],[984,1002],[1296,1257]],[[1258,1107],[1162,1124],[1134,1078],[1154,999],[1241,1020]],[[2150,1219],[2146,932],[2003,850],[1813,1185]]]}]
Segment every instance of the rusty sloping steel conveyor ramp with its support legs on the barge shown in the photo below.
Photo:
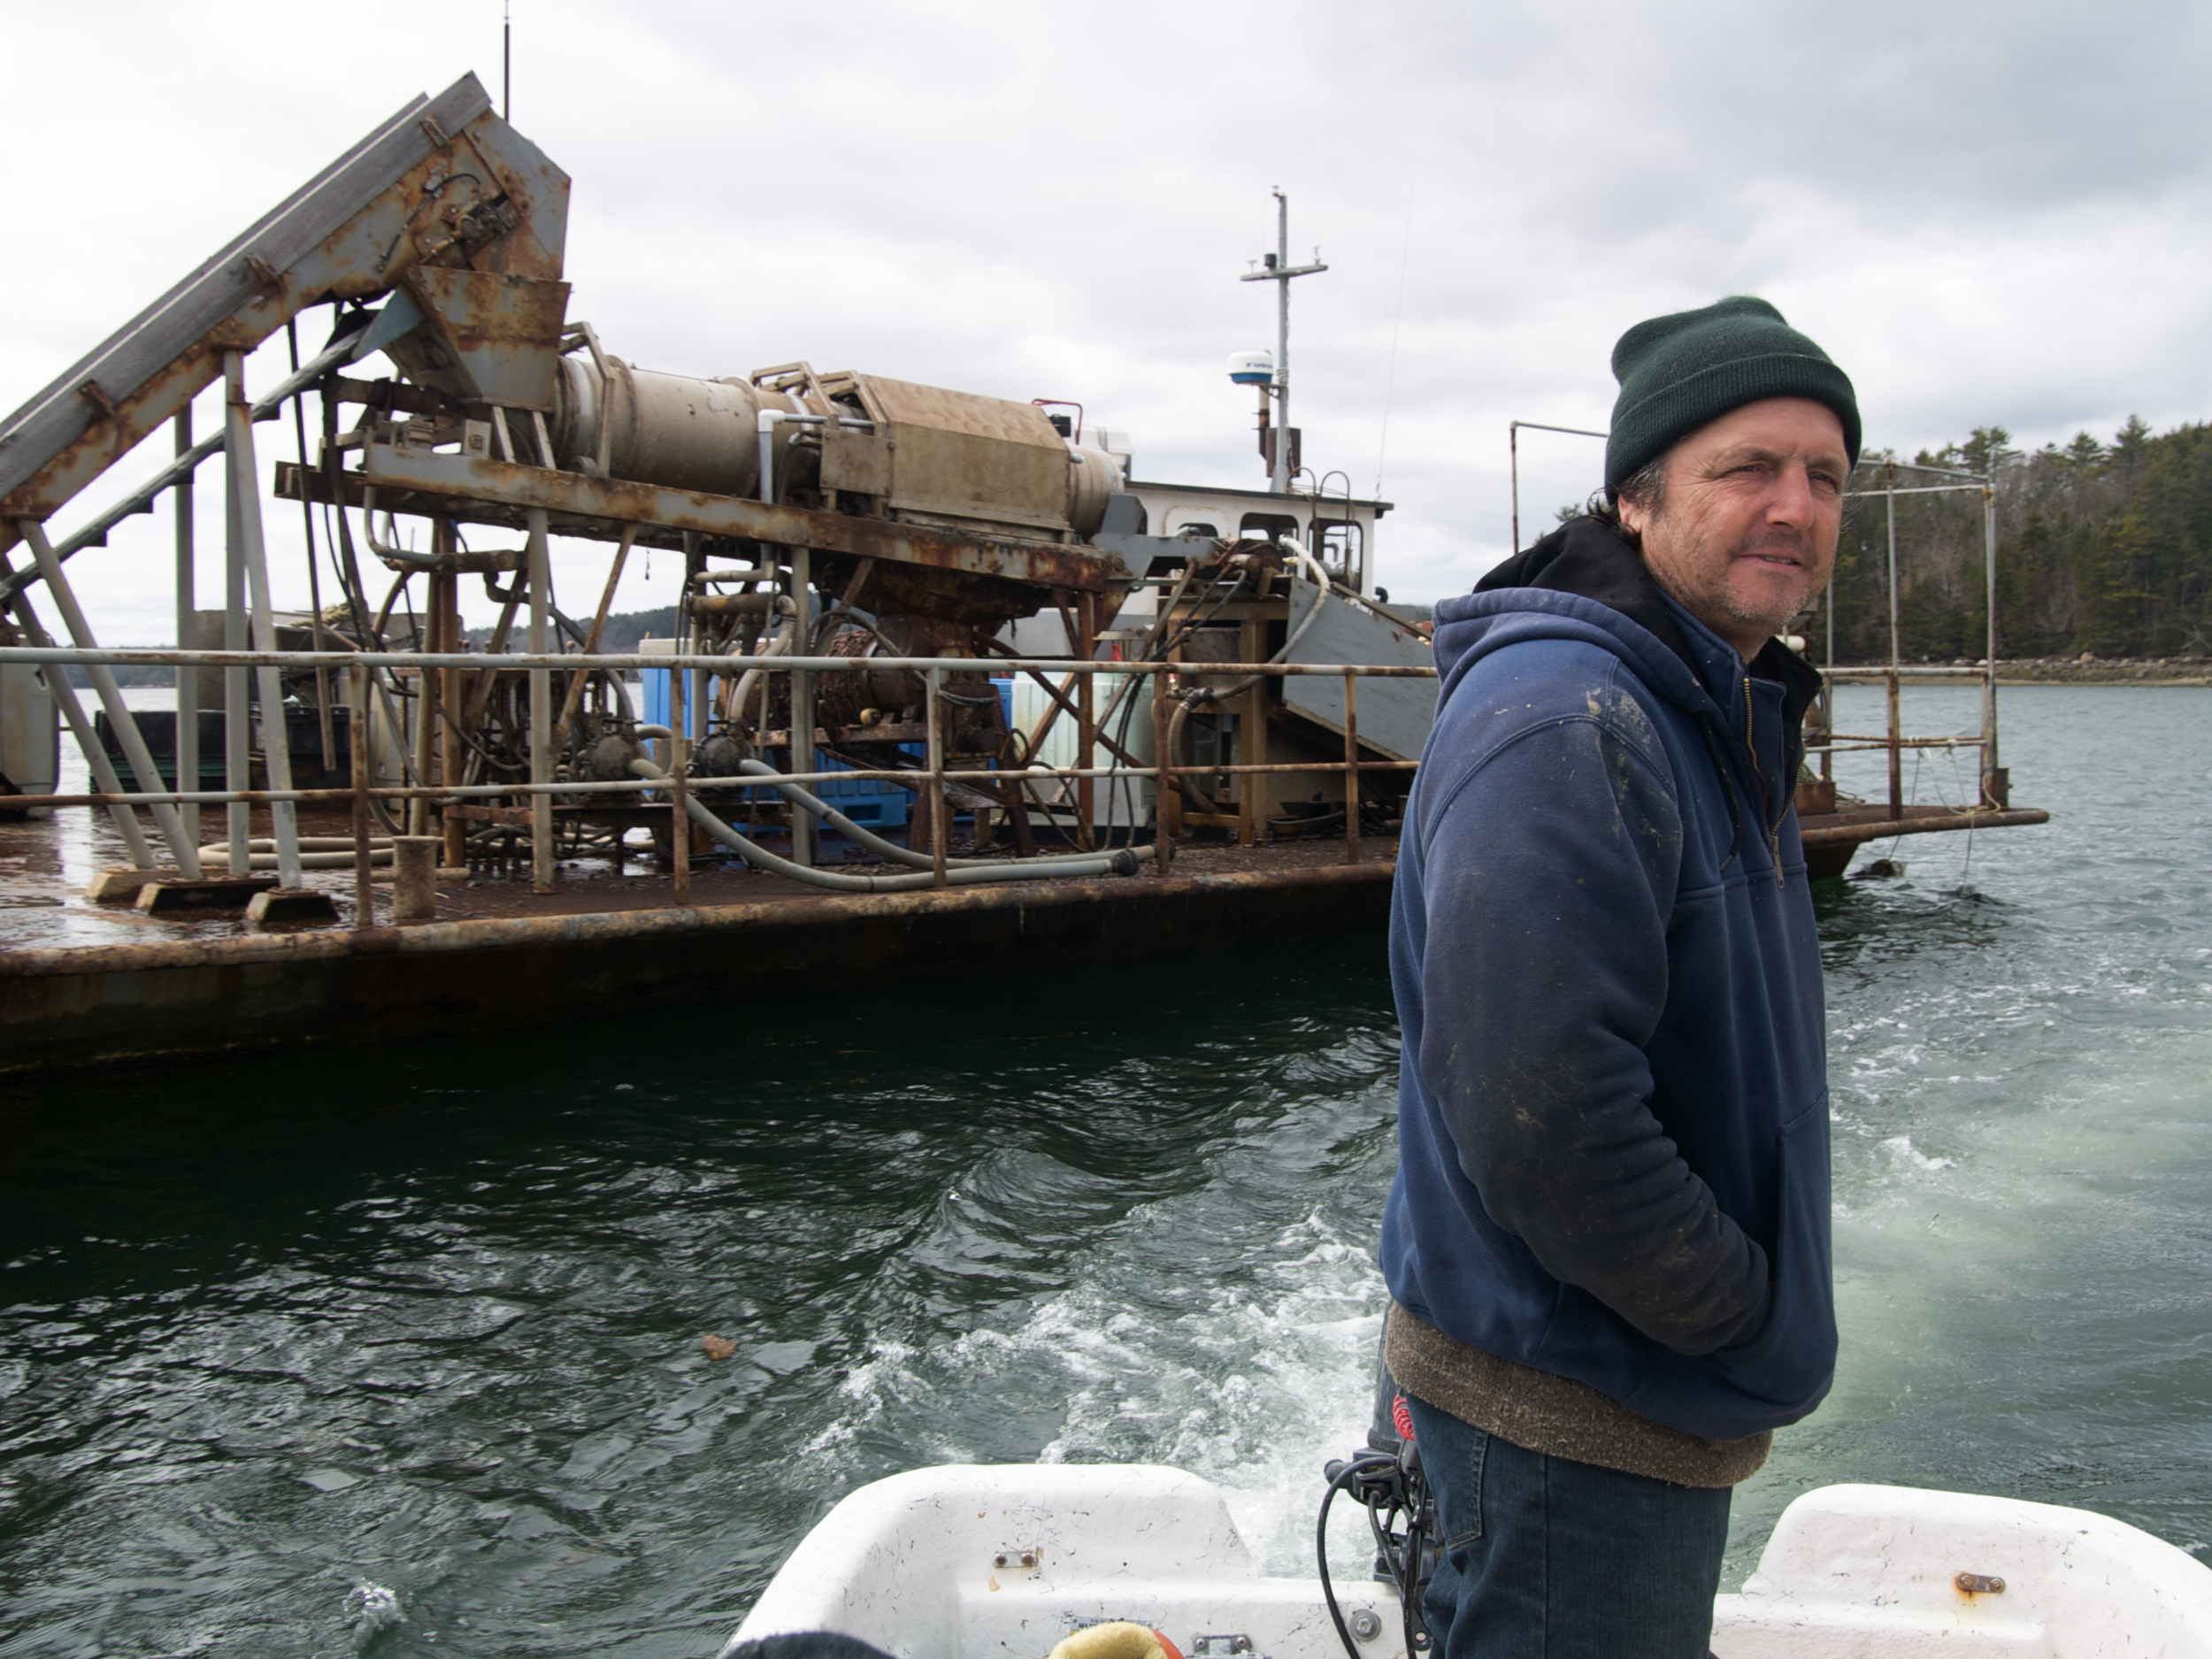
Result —
[{"label": "rusty sloping steel conveyor ramp with its support legs on the barge", "polygon": [[[557,330],[566,307],[562,246],[568,219],[568,175],[515,133],[491,108],[476,75],[462,75],[438,97],[416,97],[380,122],[367,137],[261,217],[199,270],[80,358],[44,392],[0,420],[0,604],[33,646],[53,644],[31,595],[44,586],[71,644],[97,648],[84,608],[71,591],[64,564],[84,546],[106,542],[106,531],[128,513],[153,511],[155,498],[175,484],[190,484],[201,460],[226,456],[228,546],[234,566],[230,591],[248,604],[232,604],[232,648],[274,650],[268,560],[261,542],[259,480],[252,456],[254,420],[372,349],[416,334],[431,361],[447,363],[449,378],[469,387],[467,334],[478,319],[551,316],[551,334],[518,341],[509,327],[502,363],[524,365],[524,376],[553,374]],[[341,314],[332,345],[259,403],[243,385],[246,354],[285,327],[310,305],[354,305],[392,296],[380,314]],[[489,305],[487,305],[489,301]],[[540,332],[544,332],[540,327]],[[520,349],[515,349],[520,347]],[[190,442],[192,398],[228,378],[223,431]],[[511,387],[502,387],[511,389]],[[529,396],[509,396],[529,405]],[[133,491],[69,538],[55,540],[46,522],[106,473],[117,460],[177,422],[179,458],[150,484]],[[179,509],[179,546],[188,568],[188,509]],[[31,564],[18,568],[7,553],[29,544]],[[243,577],[243,580],[241,580]],[[179,628],[184,606],[179,599]],[[246,615],[241,615],[246,611]],[[250,624],[250,628],[248,628]],[[179,635],[179,644],[186,639]],[[184,672],[184,670],[179,670]],[[290,790],[283,697],[274,668],[259,675],[263,710],[261,752],[270,790]],[[117,734],[139,794],[161,794],[153,757],[106,668],[88,668],[102,710]],[[246,772],[248,699],[243,670],[228,675],[228,787],[241,790]],[[124,794],[104,743],[88,723],[66,675],[49,672],[49,688],[73,737],[86,754],[95,787]],[[186,765],[186,734],[192,721],[179,714],[179,790]],[[192,741],[197,745],[197,739]],[[115,825],[133,865],[150,869],[155,856],[126,803],[113,803]],[[181,878],[199,876],[195,814],[173,803],[153,803],[155,821]],[[279,869],[285,889],[299,887],[299,836],[290,801],[272,805]],[[243,876],[246,807],[230,810],[232,874]]]}]

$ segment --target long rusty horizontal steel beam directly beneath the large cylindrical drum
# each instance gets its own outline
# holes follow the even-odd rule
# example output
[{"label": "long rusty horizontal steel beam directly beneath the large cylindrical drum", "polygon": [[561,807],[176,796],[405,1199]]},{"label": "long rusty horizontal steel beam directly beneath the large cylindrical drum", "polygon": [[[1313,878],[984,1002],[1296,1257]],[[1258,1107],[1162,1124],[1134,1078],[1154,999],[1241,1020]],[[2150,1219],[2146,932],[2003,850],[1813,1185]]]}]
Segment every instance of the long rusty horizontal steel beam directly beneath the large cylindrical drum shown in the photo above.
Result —
[{"label": "long rusty horizontal steel beam directly beneath the large cylindrical drum", "polygon": [[[1077,588],[1082,593],[1106,593],[1128,575],[1117,555],[1084,544],[969,535],[927,524],[818,513],[741,495],[706,495],[659,484],[633,484],[619,478],[518,467],[507,460],[398,449],[396,445],[367,445],[361,480],[376,491],[378,507],[396,511],[407,511],[416,500],[429,498],[434,511],[467,518],[467,511],[458,511],[460,502],[495,502],[509,511],[535,509],[564,520],[604,524],[599,535],[606,540],[619,535],[624,524],[655,524],[697,535],[805,546],[818,553],[891,560],[964,577],[998,577],[1024,586]],[[290,482],[305,482],[314,489],[319,480],[301,480],[294,473]],[[354,484],[347,484],[347,495],[352,491]],[[405,495],[392,491],[405,491]]]}]

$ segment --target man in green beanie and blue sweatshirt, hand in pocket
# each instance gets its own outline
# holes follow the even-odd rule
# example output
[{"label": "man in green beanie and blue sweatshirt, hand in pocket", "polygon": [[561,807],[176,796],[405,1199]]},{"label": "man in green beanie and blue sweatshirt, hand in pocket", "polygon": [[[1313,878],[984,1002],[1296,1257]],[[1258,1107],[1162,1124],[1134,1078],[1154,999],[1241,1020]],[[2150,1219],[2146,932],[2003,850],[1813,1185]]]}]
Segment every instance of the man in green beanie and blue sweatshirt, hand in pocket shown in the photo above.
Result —
[{"label": "man in green beanie and blue sweatshirt, hand in pocket", "polygon": [[1436,1659],[1703,1659],[1730,1489],[1827,1394],[1820,953],[1792,807],[1849,378],[1723,299],[1613,349],[1606,495],[1436,608],[1391,900],[1385,1356]]}]

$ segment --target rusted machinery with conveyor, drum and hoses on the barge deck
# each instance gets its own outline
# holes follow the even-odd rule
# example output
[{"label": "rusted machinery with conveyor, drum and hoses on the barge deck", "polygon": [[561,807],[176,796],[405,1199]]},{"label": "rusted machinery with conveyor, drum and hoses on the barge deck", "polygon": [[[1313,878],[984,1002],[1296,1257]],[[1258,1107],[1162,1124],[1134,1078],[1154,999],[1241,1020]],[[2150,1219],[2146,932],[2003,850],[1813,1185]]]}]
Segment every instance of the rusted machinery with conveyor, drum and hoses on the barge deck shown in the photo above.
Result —
[{"label": "rusted machinery with conveyor, drum and hoses on the barge deck", "polygon": [[[1358,765],[1376,768],[1371,801],[1387,816],[1427,730],[1427,686],[1402,697],[1405,681],[1383,681],[1354,714],[1349,679],[1239,679],[1183,666],[1425,659],[1405,624],[1332,582],[1292,542],[1146,535],[1117,458],[1033,403],[818,374],[807,363],[690,378],[613,356],[568,316],[566,204],[566,175],[462,77],[385,122],[0,425],[0,602],[33,646],[51,641],[31,606],[40,584],[71,641],[95,646],[69,562],[126,515],[153,511],[164,491],[175,491],[179,524],[179,641],[259,653],[296,644],[279,637],[270,604],[254,456],[254,422],[285,405],[299,411],[301,453],[279,462],[276,495],[303,511],[310,648],[451,657],[467,644],[460,584],[482,580],[500,604],[489,648],[467,664],[363,664],[349,686],[347,675],[296,664],[208,670],[223,681],[221,849],[197,845],[197,807],[181,799],[197,781],[201,706],[197,672],[181,668],[179,785],[155,805],[179,883],[204,876],[204,852],[219,852],[215,863],[234,878],[250,872],[248,805],[237,794],[259,781],[272,794],[274,880],[301,887],[288,701],[319,710],[332,770],[349,761],[356,781],[374,774],[414,790],[405,816],[376,805],[387,832],[440,834],[447,865],[526,843],[540,887],[553,883],[560,845],[615,845],[637,823],[661,832],[681,872],[690,838],[672,825],[699,816],[701,796],[730,814],[743,796],[752,830],[787,834],[787,863],[805,872],[818,803],[759,779],[770,768],[807,774],[818,752],[885,772],[916,768],[909,748],[940,757],[940,772],[942,757],[967,759],[956,803],[995,816],[1018,856],[1040,852],[1042,825],[1088,852],[1102,823],[1095,781],[1033,776],[1044,728],[1060,719],[1077,730],[1079,763],[1066,772],[1088,772],[1102,754],[1113,757],[1108,768],[1144,770],[1137,750],[1148,743],[1133,732],[1168,743],[1168,768],[1186,768],[1179,805],[1161,814],[1170,832],[1212,825],[1245,841],[1327,823],[1356,832],[1345,779],[1358,779],[1347,770]],[[299,319],[314,307],[330,307],[325,345],[250,398],[246,354],[294,330],[296,358]],[[398,376],[347,374],[374,354]],[[215,378],[228,385],[226,425],[195,442],[190,400]],[[175,425],[175,465],[51,538],[49,520],[164,422]],[[228,591],[221,637],[206,639],[190,484],[217,453],[228,473]],[[582,619],[553,595],[555,535],[611,549]],[[18,544],[29,544],[27,568],[7,557]],[[675,675],[666,726],[639,719],[619,675],[544,661],[597,653],[637,549],[681,555],[675,648],[695,664],[714,659]],[[325,580],[336,588],[327,602]],[[1029,617],[1057,619],[1060,655],[1095,661],[1110,650],[1161,670],[1106,692],[1088,675],[1060,684],[1031,675],[1046,692],[1044,721],[1015,730],[984,668],[898,666],[1013,657],[1004,635]],[[515,644],[538,661],[502,666]],[[1376,655],[1345,655],[1367,648]],[[776,657],[794,666],[770,668]],[[854,666],[796,666],[816,659]],[[1161,681],[1172,710],[1155,697]],[[142,799],[161,796],[159,763],[106,670],[93,670],[93,688],[131,783]],[[60,684],[55,697],[97,787],[122,794],[128,785],[77,697]],[[1270,761],[1270,732],[1276,748],[1290,745],[1290,761]],[[1318,792],[1270,783],[1305,754]],[[664,794],[641,803],[580,787],[635,779],[666,785]],[[562,796],[564,783],[577,787]],[[115,814],[133,863],[157,872],[133,810]],[[1121,818],[1128,838],[1137,816]],[[712,812],[706,818],[714,823]],[[942,880],[942,801],[916,823]],[[356,823],[363,869],[367,834]]]}]

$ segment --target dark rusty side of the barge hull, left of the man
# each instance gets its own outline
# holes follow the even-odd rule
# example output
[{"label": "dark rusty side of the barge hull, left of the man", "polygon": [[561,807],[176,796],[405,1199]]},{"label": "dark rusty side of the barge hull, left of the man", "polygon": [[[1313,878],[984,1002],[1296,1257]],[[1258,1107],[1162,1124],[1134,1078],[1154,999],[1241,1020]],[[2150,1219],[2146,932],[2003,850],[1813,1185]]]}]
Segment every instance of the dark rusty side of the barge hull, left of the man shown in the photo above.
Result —
[{"label": "dark rusty side of the barge hull, left of the man", "polygon": [[1391,865],[0,951],[0,1075],[1383,936]]}]

